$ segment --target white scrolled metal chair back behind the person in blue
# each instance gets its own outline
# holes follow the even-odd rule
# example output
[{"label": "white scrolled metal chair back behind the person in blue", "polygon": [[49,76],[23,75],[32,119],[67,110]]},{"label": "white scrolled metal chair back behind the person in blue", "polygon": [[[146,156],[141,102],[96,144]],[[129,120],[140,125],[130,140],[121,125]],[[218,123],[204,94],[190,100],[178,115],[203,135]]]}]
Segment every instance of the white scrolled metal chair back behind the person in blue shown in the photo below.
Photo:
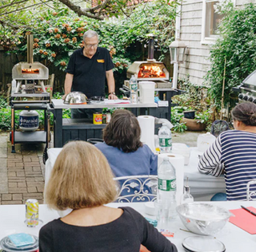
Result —
[{"label": "white scrolled metal chair back behind the person in blue", "polygon": [[154,201],[157,198],[157,175],[130,175],[114,180],[121,183],[118,203]]}]

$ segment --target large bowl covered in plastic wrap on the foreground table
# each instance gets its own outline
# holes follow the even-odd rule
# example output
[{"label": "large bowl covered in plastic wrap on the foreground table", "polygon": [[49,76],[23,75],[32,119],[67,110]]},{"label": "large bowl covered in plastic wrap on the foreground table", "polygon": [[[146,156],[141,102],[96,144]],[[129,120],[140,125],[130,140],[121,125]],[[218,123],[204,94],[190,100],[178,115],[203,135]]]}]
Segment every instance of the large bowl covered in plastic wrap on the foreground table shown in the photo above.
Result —
[{"label": "large bowl covered in plastic wrap on the foreground table", "polygon": [[209,203],[185,203],[176,207],[179,218],[195,234],[213,235],[234,216],[230,211]]}]

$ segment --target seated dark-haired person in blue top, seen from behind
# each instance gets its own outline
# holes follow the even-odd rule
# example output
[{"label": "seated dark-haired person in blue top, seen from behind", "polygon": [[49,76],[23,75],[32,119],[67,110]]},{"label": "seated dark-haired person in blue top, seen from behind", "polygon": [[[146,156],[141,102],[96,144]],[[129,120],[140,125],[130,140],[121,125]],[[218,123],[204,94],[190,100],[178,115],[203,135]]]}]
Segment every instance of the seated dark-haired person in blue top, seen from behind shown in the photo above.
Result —
[{"label": "seated dark-haired person in blue top, seen from behind", "polygon": [[103,130],[105,143],[95,144],[106,156],[116,177],[158,174],[158,156],[142,144],[140,136],[136,116],[128,110],[117,109]]}]

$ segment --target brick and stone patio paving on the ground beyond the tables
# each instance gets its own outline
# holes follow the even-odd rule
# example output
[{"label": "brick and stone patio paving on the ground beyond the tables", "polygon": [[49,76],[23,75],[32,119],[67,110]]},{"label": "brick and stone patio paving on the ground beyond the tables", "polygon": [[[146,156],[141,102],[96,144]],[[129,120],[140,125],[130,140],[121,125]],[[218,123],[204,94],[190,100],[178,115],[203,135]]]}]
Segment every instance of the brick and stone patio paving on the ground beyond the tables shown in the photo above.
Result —
[{"label": "brick and stone patio paving on the ground beyond the tables", "polygon": [[[174,133],[172,140],[194,147],[199,134],[202,132]],[[16,153],[11,153],[9,133],[0,134],[0,204],[23,204],[30,198],[43,202],[44,146],[15,144]]]}]

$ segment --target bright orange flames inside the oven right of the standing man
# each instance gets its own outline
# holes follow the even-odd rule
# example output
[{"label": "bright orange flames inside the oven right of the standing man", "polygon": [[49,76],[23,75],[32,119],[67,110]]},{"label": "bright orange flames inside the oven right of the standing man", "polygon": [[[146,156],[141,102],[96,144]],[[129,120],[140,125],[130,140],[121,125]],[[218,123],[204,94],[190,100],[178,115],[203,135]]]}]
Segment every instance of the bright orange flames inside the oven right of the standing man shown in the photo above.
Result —
[{"label": "bright orange flames inside the oven right of the standing man", "polygon": [[160,65],[146,65],[142,64],[138,72],[138,78],[165,78]]}]

